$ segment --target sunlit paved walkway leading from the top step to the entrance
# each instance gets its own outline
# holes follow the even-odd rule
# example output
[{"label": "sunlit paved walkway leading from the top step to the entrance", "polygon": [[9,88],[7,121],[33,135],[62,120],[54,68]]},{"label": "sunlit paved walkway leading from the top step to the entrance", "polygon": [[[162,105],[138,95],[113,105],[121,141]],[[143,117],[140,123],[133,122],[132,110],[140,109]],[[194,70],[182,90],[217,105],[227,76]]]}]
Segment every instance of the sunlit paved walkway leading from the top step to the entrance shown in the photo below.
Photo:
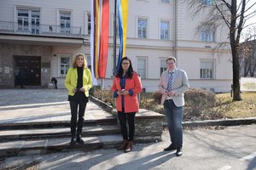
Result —
[{"label": "sunlit paved walkway leading from the top step to the entrance", "polygon": [[[112,117],[89,102],[85,120]],[[0,124],[20,122],[70,121],[65,89],[0,89]]]}]

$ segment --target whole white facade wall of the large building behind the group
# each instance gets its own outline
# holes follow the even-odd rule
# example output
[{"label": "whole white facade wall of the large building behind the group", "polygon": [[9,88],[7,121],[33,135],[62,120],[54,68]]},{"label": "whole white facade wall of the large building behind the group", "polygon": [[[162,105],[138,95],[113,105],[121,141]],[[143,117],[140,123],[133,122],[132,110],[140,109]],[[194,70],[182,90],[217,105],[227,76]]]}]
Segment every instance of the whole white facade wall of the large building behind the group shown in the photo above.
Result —
[{"label": "whole white facade wall of the large building behind the group", "polygon": [[[197,26],[204,20],[205,15],[199,14],[197,18],[191,17],[187,1],[174,1],[160,3],[160,0],[130,0],[127,32],[126,55],[131,58],[132,65],[137,71],[137,57],[147,58],[147,79],[143,79],[143,88],[153,92],[157,89],[160,78],[160,59],[177,54],[177,67],[187,71],[192,88],[216,88],[216,91],[229,91],[232,78],[232,65],[230,52],[212,52],[218,42],[225,41],[228,36],[226,28],[218,29],[215,33],[217,42],[201,42],[198,39]],[[84,33],[85,14],[90,11],[90,0],[0,0],[0,21],[16,21],[15,8],[40,8],[41,24],[59,25],[59,10],[72,12],[72,26],[82,27]],[[176,17],[175,17],[176,14]],[[113,1],[110,0],[110,21],[113,22]],[[137,18],[148,19],[148,38],[137,38]],[[170,21],[170,40],[160,40],[160,20]],[[113,23],[110,31],[113,31]],[[175,25],[176,24],[176,25]],[[176,29],[176,30],[175,30]],[[109,37],[108,66],[106,87],[112,84],[113,75],[113,33]],[[90,38],[86,36],[85,38]],[[177,43],[175,43],[177,41]],[[119,43],[119,39],[117,39]],[[177,44],[177,46],[175,46]],[[206,47],[207,46],[207,47]],[[176,51],[176,53],[175,53]],[[81,48],[53,47],[53,54],[68,53],[73,56],[77,53],[90,54],[90,44]],[[118,55],[118,50],[117,50]],[[214,59],[215,77],[212,80],[200,79],[200,60]],[[51,58],[51,76],[57,76],[57,58]],[[61,78],[62,80],[63,78]],[[61,86],[62,82],[59,82]]]}]

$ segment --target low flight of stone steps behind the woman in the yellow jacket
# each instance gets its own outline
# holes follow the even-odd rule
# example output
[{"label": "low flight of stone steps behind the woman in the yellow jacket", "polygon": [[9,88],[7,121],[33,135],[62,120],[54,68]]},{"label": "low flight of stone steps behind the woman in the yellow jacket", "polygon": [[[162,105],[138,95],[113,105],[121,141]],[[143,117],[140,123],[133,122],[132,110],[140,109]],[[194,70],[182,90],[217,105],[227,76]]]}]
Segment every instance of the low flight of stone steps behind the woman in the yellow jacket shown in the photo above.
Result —
[{"label": "low flight of stone steps behind the woman in the yellow jacket", "polygon": [[22,122],[0,125],[0,157],[67,150],[117,147],[122,142],[116,117],[86,120],[84,144],[70,145],[69,122]]}]

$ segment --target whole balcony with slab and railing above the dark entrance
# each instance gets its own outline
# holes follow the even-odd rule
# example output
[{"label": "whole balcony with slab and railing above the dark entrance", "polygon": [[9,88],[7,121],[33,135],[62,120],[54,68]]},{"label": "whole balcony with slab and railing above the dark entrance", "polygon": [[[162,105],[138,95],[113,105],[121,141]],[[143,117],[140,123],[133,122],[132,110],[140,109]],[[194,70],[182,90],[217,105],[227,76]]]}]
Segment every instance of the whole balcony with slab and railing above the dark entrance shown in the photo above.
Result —
[{"label": "whole balcony with slab and railing above the dark entrance", "polygon": [[0,42],[26,45],[81,47],[81,27],[54,25],[19,25],[0,21]]}]

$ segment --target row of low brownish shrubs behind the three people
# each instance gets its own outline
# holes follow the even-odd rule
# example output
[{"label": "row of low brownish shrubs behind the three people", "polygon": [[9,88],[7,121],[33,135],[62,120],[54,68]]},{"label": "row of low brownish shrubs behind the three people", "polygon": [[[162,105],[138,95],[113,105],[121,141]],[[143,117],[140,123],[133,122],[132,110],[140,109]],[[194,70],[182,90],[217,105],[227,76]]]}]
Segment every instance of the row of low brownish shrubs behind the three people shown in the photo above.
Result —
[{"label": "row of low brownish shrubs behind the three people", "polygon": [[[92,95],[108,105],[114,105],[113,94],[108,89],[102,90],[97,88]],[[230,110],[232,106],[232,100],[217,99],[214,93],[203,89],[189,89],[185,93],[184,98],[184,121],[223,118],[224,112]],[[142,93],[140,108],[164,114],[164,108],[163,105],[160,105],[160,99],[161,94],[159,91],[154,92],[154,94]]]}]

